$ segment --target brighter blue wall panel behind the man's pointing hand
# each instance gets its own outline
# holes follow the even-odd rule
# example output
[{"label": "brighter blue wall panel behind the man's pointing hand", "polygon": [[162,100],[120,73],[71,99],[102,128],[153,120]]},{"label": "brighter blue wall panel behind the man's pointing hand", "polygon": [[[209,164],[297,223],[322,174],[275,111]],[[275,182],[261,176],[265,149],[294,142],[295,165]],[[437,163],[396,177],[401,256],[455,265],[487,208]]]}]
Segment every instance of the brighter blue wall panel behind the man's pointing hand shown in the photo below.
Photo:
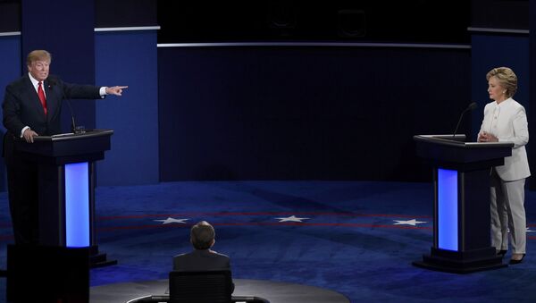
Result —
[{"label": "brighter blue wall panel behind the man's pointing hand", "polygon": [[113,129],[112,150],[97,163],[98,185],[158,182],[158,75],[155,30],[96,33],[96,82],[128,85],[96,101],[96,126]]}]

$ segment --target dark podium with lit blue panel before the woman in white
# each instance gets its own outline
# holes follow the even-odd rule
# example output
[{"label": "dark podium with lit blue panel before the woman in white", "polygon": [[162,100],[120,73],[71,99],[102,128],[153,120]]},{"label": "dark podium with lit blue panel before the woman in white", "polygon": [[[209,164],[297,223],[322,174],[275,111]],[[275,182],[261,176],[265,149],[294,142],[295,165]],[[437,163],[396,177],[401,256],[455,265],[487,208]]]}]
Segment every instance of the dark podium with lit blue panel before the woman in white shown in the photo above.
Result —
[{"label": "dark podium with lit blue panel before the woman in white", "polygon": [[465,135],[414,136],[433,167],[433,245],[413,265],[465,274],[507,266],[490,240],[490,169],[512,155],[512,142],[465,142]]}]

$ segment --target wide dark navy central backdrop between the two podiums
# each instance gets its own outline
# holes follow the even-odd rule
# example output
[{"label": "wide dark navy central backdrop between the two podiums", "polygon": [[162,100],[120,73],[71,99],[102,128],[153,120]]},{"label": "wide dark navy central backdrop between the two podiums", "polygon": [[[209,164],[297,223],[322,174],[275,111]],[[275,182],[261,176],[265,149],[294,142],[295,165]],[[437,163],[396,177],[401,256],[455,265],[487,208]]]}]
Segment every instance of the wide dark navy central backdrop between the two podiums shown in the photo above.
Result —
[{"label": "wide dark navy central backdrop between the two podiums", "polygon": [[469,49],[158,52],[161,181],[428,180],[413,135],[452,132],[470,103]]}]

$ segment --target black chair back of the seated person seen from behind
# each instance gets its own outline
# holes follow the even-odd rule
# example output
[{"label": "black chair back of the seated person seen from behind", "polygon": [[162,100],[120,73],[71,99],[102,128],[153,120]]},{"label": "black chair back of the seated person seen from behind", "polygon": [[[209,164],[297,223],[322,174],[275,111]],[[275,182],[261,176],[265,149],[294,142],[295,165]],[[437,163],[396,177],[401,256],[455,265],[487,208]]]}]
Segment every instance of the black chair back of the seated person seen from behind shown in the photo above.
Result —
[{"label": "black chair back of the seated person seen from behind", "polygon": [[230,303],[230,271],[170,272],[170,303]]}]

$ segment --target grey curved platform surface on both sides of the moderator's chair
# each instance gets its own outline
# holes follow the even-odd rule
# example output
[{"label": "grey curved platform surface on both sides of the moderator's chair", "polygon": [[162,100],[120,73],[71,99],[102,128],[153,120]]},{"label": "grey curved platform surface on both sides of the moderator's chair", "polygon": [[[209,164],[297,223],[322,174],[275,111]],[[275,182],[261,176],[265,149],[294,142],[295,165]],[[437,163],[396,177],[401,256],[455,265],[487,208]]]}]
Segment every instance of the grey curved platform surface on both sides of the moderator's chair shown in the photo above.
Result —
[{"label": "grey curved platform surface on both sides of the moderator's chair", "polygon": [[[350,301],[333,290],[297,283],[272,282],[263,280],[233,279],[234,296],[255,296],[270,303],[349,303]],[[164,295],[168,281],[113,283],[90,289],[91,303],[127,302],[148,295]]]}]

